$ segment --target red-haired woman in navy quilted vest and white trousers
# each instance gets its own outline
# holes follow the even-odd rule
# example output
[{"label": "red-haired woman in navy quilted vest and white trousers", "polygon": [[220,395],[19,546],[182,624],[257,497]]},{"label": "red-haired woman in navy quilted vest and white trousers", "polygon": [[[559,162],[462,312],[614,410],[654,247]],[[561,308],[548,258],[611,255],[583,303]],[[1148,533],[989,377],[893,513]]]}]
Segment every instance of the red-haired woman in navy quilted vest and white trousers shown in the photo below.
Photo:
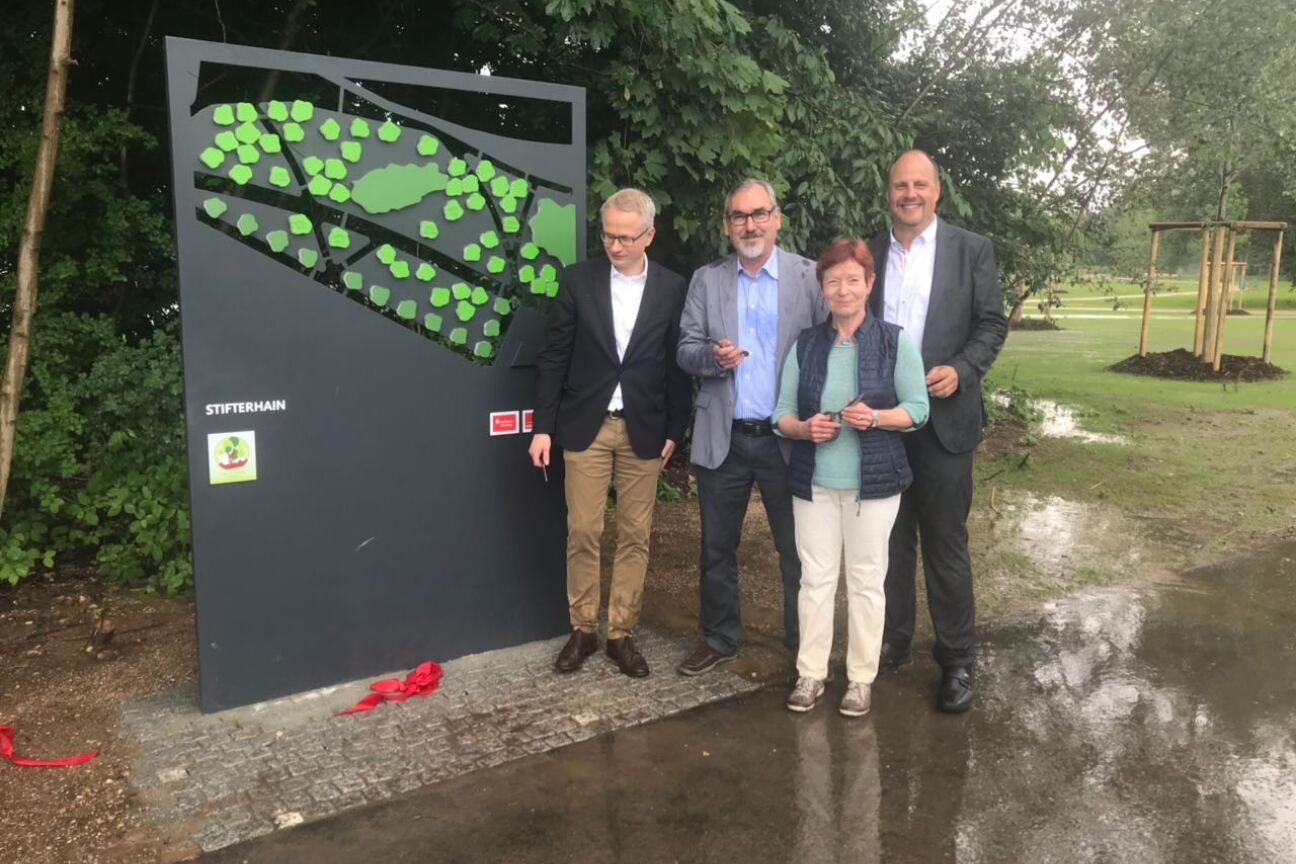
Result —
[{"label": "red-haired woman in navy quilted vest and white trousers", "polygon": [[927,385],[914,341],[867,313],[875,276],[868,246],[839,240],[815,272],[832,316],[802,330],[788,352],[772,417],[793,440],[801,558],[801,648],[787,706],[809,711],[823,696],[845,552],[848,680],[840,711],[863,716],[881,650],[888,538],[899,494],[914,479],[901,435],[927,422]]}]

